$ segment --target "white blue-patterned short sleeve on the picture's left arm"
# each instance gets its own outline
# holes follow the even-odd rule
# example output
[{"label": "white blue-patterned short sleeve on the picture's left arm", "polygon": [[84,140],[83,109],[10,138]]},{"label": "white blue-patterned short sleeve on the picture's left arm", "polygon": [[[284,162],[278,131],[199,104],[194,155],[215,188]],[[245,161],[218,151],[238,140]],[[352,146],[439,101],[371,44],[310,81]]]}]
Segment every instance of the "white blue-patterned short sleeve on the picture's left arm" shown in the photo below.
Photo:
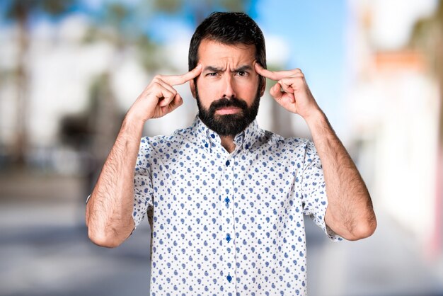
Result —
[{"label": "white blue-patterned short sleeve on the picture's left arm", "polygon": [[151,163],[152,149],[149,138],[142,138],[134,168],[134,210],[132,218],[135,228],[142,222],[146,212],[153,206]]}]

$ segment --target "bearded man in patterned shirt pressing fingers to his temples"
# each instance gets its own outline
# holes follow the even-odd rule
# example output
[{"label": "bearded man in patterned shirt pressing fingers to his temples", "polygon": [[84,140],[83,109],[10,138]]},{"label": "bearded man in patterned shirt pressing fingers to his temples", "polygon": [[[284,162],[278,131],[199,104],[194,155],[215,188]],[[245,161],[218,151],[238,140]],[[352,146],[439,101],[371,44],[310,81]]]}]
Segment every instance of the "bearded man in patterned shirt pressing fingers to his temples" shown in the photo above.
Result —
[{"label": "bearded man in patterned shirt pressing fingers to his temples", "polygon": [[[94,243],[114,247],[153,212],[151,295],[306,295],[304,215],[333,240],[374,232],[367,188],[303,73],[265,68],[256,23],[212,13],[192,36],[190,72],[156,76],[128,110],[86,224]],[[265,78],[313,142],[258,127]],[[173,86],[187,81],[194,123],[142,138],[146,121],[181,105]]]}]

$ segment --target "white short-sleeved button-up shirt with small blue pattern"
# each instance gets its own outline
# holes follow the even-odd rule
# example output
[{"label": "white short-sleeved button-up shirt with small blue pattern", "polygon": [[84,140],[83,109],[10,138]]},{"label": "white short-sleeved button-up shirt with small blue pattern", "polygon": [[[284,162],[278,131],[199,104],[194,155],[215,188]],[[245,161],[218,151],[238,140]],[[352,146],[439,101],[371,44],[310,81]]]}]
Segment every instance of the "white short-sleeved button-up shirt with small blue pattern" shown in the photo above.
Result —
[{"label": "white short-sleeved button-up shirt with small blue pattern", "polygon": [[153,210],[151,295],[306,295],[304,215],[333,240],[310,140],[253,121],[229,154],[198,116],[171,136],[142,138],[134,222]]}]

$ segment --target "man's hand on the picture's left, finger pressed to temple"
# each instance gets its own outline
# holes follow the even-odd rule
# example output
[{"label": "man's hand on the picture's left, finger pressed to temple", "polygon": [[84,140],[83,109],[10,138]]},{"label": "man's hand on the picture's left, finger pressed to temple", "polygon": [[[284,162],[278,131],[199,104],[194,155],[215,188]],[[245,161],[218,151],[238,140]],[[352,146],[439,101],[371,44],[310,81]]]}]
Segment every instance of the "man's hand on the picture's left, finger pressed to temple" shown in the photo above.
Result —
[{"label": "man's hand on the picture's left, finger pressed to temple", "polygon": [[156,75],[127,112],[127,117],[141,120],[161,118],[183,104],[183,99],[173,86],[184,84],[202,72],[202,65],[183,75]]}]

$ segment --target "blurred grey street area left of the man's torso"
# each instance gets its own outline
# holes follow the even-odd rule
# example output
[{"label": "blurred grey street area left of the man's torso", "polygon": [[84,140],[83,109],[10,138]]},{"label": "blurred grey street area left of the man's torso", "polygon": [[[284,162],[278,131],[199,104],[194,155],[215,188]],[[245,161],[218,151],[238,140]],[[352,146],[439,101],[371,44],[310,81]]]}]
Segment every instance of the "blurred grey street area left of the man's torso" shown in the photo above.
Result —
[{"label": "blurred grey street area left of the man's torso", "polygon": [[[87,237],[81,182],[36,176],[21,182],[2,176],[4,190],[15,185],[34,195],[3,198],[0,205],[0,295],[147,295],[149,224],[117,249],[100,248]],[[12,184],[4,183],[7,180]],[[29,186],[30,183],[33,183]],[[59,184],[62,183],[62,186]],[[58,184],[58,185],[57,185]],[[33,188],[32,188],[33,187]],[[67,190],[51,192],[51,188]],[[46,190],[44,188],[47,188]],[[49,190],[48,190],[49,188]],[[86,197],[85,197],[86,198]]]}]

